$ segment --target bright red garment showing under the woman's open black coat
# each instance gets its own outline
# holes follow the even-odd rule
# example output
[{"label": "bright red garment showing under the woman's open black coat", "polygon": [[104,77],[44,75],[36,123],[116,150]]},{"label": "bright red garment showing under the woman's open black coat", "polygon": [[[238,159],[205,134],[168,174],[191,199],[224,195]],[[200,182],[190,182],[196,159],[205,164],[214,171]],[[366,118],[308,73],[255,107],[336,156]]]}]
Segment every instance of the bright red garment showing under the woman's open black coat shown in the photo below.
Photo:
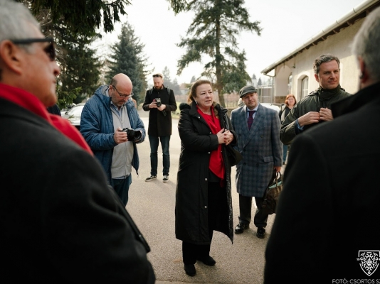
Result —
[{"label": "bright red garment showing under the woman's open black coat", "polygon": [[[211,129],[211,133],[216,134],[219,131],[221,131],[221,123],[219,122],[219,119],[215,116],[215,114],[213,113],[213,107],[211,107],[211,115],[204,114],[201,111],[201,109],[199,109],[198,106],[196,106],[196,108],[198,109],[198,113],[201,114],[201,116],[204,118],[206,123],[209,125]],[[225,169],[224,169],[224,163],[223,163],[221,144],[218,144],[218,149],[216,151],[211,151],[209,169],[218,178],[221,178],[221,180],[224,180]]]}]

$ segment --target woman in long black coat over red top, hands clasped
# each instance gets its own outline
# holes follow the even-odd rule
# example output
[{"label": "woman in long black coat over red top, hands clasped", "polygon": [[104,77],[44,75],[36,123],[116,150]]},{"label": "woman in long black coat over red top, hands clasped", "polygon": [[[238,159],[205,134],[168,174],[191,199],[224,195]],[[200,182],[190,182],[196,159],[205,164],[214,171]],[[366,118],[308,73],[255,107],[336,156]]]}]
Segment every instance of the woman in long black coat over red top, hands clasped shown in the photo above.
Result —
[{"label": "woman in long black coat over red top, hands clasped", "polygon": [[236,136],[227,109],[213,102],[208,80],[194,82],[189,104],[180,109],[176,239],[182,241],[184,270],[194,276],[197,260],[207,266],[216,263],[210,256],[214,230],[233,241],[231,165],[225,148],[236,144]]}]

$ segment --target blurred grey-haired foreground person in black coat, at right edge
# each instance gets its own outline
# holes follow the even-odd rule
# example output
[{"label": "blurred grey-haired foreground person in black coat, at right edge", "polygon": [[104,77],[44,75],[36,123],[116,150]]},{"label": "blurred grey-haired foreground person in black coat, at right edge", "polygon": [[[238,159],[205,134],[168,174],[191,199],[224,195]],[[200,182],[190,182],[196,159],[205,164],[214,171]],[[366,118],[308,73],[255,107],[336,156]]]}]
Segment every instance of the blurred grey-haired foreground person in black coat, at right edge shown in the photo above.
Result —
[{"label": "blurred grey-haired foreground person in black coat, at right edge", "polygon": [[265,283],[375,283],[380,278],[379,46],[377,8],[352,45],[359,92],[332,104],[334,121],[292,143],[265,251]]}]

